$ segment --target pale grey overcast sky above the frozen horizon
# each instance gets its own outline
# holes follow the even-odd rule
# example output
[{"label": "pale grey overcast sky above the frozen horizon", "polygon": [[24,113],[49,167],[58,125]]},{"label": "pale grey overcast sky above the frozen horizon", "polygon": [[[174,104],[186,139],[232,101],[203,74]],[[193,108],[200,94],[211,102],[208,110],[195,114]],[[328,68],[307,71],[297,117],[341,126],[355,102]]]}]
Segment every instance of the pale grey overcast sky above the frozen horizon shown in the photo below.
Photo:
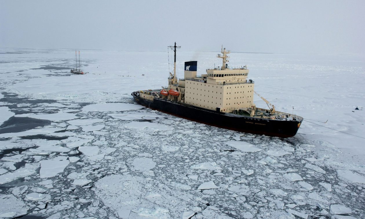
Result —
[{"label": "pale grey overcast sky above the frozen horizon", "polygon": [[364,0],[0,0],[0,47],[364,54],[364,32]]}]

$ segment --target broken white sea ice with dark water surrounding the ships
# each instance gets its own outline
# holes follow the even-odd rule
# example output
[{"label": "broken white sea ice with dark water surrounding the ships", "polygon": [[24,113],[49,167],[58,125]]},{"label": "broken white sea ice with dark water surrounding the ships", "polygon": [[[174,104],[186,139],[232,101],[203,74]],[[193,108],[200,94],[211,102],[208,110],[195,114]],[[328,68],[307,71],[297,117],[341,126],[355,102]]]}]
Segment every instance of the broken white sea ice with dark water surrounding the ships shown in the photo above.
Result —
[{"label": "broken white sea ice with dark water surrounding the ships", "polygon": [[[311,119],[280,139],[135,104],[166,86],[167,50],[84,50],[85,75],[73,54],[1,49],[0,218],[365,218],[365,55],[231,53],[278,111]],[[179,77],[216,54],[180,51]]]}]

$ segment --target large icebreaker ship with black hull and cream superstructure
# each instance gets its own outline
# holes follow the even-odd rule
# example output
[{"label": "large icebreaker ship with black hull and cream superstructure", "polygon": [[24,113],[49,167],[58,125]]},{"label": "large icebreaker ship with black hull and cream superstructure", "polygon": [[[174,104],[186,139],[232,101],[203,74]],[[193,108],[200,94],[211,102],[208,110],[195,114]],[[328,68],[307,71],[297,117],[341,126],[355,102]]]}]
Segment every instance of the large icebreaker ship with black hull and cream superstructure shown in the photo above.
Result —
[{"label": "large icebreaker ship with black hull and cream superstructure", "polygon": [[[170,72],[168,87],[135,91],[134,100],[154,110],[181,118],[252,134],[288,138],[294,136],[303,121],[300,116],[278,112],[274,105],[254,91],[254,81],[247,80],[247,66],[229,68],[226,48],[221,50],[222,67],[207,69],[197,76],[197,61],[185,62],[184,78],[176,78],[176,42],[174,74]],[[256,93],[269,109],[257,108]]]}]

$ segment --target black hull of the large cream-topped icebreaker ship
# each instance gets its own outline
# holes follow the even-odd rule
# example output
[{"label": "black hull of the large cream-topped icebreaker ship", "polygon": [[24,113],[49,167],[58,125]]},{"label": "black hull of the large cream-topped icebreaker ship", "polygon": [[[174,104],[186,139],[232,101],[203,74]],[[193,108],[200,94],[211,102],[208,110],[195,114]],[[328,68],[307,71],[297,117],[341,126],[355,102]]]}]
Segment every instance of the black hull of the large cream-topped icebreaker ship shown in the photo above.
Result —
[{"label": "black hull of the large cream-topped icebreaker ship", "polygon": [[261,119],[250,116],[228,114],[161,99],[149,101],[142,99],[137,95],[137,93],[138,92],[132,93],[134,100],[145,107],[210,126],[240,132],[289,138],[293,137],[297,133],[301,123],[301,120],[286,121]]}]

